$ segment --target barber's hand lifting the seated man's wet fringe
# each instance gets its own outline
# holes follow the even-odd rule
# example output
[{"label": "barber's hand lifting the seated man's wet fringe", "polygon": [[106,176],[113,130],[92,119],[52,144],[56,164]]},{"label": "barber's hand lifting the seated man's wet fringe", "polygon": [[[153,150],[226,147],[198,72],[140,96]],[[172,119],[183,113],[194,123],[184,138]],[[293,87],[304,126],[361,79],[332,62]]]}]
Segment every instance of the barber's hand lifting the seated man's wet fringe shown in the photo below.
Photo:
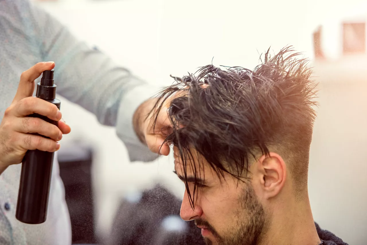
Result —
[{"label": "barber's hand lifting the seated man's wet fringe", "polygon": [[169,103],[165,102],[162,106],[157,116],[155,128],[153,128],[155,121],[155,116],[153,115],[155,114],[155,110],[152,111],[152,109],[156,102],[157,99],[149,99],[139,106],[134,115],[135,132],[140,140],[148,146],[149,150],[167,156],[170,153],[170,146],[162,144],[167,135],[172,132],[171,122],[167,113]]}]

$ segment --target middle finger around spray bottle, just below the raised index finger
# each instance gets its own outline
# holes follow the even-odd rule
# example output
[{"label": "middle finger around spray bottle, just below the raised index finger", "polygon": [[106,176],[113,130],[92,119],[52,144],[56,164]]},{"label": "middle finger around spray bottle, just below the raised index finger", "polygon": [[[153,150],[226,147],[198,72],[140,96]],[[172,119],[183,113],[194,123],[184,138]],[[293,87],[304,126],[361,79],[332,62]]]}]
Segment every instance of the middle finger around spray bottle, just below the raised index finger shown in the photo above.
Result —
[{"label": "middle finger around spray bottle, just below the raised index finger", "polygon": [[27,97],[18,101],[14,107],[14,116],[25,117],[38,113],[54,121],[62,117],[61,111],[54,104],[37,97]]}]

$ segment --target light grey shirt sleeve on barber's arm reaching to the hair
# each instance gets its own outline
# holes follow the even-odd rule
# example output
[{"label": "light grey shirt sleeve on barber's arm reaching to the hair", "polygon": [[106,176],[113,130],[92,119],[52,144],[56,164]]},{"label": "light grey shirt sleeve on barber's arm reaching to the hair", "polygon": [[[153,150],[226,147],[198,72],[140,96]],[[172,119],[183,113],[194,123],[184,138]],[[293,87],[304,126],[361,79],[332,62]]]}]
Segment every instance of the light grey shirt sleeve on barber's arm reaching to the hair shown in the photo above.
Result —
[{"label": "light grey shirt sleeve on barber's arm reaching to the hair", "polygon": [[69,30],[40,8],[24,0],[8,0],[19,9],[24,41],[39,50],[41,61],[54,61],[58,94],[94,113],[104,125],[116,126],[131,161],[157,157],[139,142],[132,125],[135,109],[159,87],[133,76],[107,55],[77,40]]}]

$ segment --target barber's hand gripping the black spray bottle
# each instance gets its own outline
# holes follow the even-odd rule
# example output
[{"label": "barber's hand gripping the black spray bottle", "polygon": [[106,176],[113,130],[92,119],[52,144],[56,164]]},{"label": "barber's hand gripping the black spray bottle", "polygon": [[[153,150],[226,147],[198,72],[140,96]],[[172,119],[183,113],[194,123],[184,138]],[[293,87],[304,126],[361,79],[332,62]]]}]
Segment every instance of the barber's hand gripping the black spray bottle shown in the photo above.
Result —
[{"label": "barber's hand gripping the black spray bottle", "polygon": [[[34,80],[45,70],[51,70],[54,62],[40,62],[22,73],[17,94],[6,109],[0,124],[0,173],[1,169],[12,164],[19,164],[27,150],[57,151],[58,140],[70,132],[70,127],[61,119],[57,106],[43,99],[31,97],[34,91]],[[58,127],[40,118],[27,117],[38,113],[59,121]],[[31,133],[50,137],[43,138]]]}]

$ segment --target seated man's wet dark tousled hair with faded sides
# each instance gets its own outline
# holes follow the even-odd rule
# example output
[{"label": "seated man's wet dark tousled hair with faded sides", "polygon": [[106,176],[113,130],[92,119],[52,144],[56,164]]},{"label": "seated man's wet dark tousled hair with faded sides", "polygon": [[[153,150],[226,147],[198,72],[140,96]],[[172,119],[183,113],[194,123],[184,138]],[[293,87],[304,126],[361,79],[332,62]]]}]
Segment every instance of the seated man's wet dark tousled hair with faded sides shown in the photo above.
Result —
[{"label": "seated man's wet dark tousled hair with faded sides", "polygon": [[[268,50],[264,62],[253,70],[207,65],[194,74],[174,77],[176,83],[160,93],[153,116],[171,95],[183,92],[170,102],[173,129],[166,143],[177,146],[184,179],[188,168],[195,179],[202,174],[190,149],[204,157],[218,176],[227,172],[238,180],[248,178],[249,164],[259,154],[268,155],[270,149],[290,167],[296,194],[307,190],[316,117],[313,106],[317,103],[313,100],[316,83],[310,80],[312,70],[301,55],[292,47],[273,57]],[[197,185],[193,193],[187,182],[185,185],[193,206]]]}]

